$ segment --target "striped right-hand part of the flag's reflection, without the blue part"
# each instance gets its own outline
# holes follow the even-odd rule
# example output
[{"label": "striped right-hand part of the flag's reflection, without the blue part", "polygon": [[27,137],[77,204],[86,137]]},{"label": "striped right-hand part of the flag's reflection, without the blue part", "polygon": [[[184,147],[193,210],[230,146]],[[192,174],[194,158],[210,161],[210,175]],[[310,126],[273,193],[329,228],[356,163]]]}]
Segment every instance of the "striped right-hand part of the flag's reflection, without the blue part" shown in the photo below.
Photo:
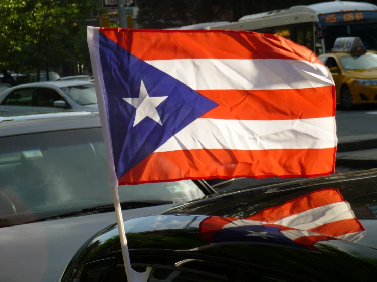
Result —
[{"label": "striped right-hand part of the flag's reflection, without the blue part", "polygon": [[314,191],[246,219],[284,225],[351,242],[359,241],[365,234],[365,229],[355,218],[349,203],[336,189]]}]

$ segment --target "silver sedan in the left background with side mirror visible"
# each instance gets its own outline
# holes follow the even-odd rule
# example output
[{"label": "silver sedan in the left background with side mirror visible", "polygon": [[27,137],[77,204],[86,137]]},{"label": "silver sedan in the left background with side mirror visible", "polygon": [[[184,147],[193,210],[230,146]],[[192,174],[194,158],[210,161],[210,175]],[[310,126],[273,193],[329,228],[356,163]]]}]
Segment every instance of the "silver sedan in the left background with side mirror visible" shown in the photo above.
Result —
[{"label": "silver sedan in the left background with side mirror visible", "polygon": [[74,80],[36,82],[0,94],[0,115],[65,110],[98,111],[94,84]]}]

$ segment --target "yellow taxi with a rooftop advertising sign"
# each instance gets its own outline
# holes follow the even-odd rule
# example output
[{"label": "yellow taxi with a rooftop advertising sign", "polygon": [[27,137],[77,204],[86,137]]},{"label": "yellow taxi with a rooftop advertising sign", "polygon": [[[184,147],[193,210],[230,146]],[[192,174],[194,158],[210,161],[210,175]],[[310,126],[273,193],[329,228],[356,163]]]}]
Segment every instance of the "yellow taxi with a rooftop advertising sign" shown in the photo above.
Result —
[{"label": "yellow taxi with a rooftop advertising sign", "polygon": [[329,68],[344,109],[377,103],[377,51],[366,50],[359,37],[337,38],[332,52],[319,59]]}]

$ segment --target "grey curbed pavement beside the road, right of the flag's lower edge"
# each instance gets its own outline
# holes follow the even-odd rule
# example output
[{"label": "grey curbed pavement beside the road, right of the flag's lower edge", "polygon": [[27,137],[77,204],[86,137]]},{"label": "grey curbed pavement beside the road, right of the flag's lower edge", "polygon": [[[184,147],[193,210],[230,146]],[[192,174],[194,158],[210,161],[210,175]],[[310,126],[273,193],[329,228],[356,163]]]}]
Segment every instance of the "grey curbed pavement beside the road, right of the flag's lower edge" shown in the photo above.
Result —
[{"label": "grey curbed pavement beside the road, right of the flag's lower edge", "polygon": [[358,169],[377,168],[377,134],[338,137],[335,165]]}]

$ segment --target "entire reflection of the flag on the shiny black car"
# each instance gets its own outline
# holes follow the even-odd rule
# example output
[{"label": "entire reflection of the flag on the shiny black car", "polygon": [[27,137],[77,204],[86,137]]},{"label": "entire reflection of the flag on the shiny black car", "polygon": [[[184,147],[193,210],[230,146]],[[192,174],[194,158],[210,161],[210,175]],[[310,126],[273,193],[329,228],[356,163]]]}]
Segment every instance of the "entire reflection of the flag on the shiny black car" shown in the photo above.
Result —
[{"label": "entire reflection of the flag on the shiny black car", "polygon": [[323,189],[243,219],[210,216],[200,222],[209,243],[254,242],[314,248],[320,241],[358,242],[363,225],[341,193]]}]

